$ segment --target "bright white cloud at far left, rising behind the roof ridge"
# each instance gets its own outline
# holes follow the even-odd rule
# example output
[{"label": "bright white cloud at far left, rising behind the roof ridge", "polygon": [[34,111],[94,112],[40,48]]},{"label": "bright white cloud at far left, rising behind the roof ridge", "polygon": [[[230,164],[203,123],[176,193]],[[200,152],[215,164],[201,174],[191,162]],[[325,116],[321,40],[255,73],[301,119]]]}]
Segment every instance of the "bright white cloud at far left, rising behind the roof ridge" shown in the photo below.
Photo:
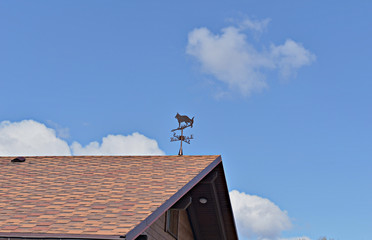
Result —
[{"label": "bright white cloud at far left, rising behind the roof ridge", "polygon": [[23,120],[0,123],[0,155],[46,156],[71,155],[68,144],[56,136],[56,131],[44,124]]}]

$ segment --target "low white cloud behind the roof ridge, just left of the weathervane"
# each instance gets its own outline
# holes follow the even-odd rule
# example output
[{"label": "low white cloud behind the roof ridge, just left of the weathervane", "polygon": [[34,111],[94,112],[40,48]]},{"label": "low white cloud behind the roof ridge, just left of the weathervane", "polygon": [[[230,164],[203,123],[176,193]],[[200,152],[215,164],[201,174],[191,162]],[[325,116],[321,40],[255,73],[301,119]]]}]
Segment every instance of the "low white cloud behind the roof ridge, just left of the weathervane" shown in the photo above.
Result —
[{"label": "low white cloud behind the roof ridge, just left of the weathervane", "polygon": [[158,143],[137,132],[132,135],[108,135],[102,144],[91,142],[85,147],[74,142],[71,145],[74,155],[163,155]]}]

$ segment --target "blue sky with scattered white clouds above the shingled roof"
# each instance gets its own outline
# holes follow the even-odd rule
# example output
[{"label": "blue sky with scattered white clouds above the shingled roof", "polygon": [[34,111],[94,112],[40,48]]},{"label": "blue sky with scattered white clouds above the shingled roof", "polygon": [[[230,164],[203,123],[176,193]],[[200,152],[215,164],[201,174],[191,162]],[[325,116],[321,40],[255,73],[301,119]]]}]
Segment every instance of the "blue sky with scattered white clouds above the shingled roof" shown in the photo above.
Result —
[{"label": "blue sky with scattered white clouds above the shingled roof", "polygon": [[179,112],[195,116],[184,153],[221,154],[229,189],[278,214],[264,230],[242,216],[241,239],[372,239],[371,12],[370,1],[1,1],[0,153],[40,133],[56,152],[132,141],[174,155]]}]

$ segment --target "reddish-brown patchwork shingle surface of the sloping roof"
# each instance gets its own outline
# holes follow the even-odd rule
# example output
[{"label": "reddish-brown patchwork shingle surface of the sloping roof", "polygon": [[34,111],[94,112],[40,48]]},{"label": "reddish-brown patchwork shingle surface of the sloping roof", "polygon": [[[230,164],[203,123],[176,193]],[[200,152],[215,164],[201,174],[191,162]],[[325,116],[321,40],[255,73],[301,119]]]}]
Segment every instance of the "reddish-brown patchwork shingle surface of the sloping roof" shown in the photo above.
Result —
[{"label": "reddish-brown patchwork shingle surface of the sloping roof", "polygon": [[125,235],[217,157],[0,157],[0,233]]}]

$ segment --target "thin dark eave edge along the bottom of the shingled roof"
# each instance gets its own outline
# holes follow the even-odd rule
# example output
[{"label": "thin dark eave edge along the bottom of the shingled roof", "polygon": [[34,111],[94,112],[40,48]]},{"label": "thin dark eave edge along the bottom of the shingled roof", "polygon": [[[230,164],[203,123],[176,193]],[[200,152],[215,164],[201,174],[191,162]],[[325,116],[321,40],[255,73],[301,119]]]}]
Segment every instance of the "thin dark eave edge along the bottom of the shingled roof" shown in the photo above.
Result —
[{"label": "thin dark eave edge along the bottom of the shingled roof", "polygon": [[0,232],[0,238],[54,238],[54,239],[122,239],[118,235],[95,235],[95,234],[59,234],[59,233],[28,233],[28,232]]}]

